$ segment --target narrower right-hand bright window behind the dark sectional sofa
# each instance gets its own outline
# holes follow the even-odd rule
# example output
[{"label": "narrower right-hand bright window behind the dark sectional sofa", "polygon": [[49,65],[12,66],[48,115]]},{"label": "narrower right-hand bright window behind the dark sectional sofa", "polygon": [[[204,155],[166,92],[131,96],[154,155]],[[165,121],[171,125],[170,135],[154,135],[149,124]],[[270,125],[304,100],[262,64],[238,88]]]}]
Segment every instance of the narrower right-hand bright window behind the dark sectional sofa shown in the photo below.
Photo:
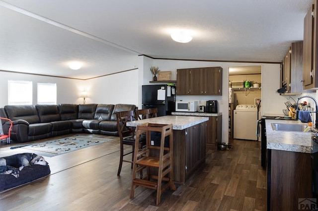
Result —
[{"label": "narrower right-hand bright window behind the dark sectional sofa", "polygon": [[37,104],[56,104],[56,84],[38,83]]}]

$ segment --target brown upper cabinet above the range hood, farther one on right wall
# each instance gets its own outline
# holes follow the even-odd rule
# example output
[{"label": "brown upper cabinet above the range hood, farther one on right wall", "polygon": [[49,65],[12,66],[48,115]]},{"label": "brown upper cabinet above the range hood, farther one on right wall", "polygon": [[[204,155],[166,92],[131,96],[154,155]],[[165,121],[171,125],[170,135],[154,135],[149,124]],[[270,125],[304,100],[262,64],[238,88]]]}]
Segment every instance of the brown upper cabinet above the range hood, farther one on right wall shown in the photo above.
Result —
[{"label": "brown upper cabinet above the range hood, farther one on right wall", "polygon": [[303,90],[303,41],[292,43],[283,61],[282,86],[287,93],[300,94]]}]

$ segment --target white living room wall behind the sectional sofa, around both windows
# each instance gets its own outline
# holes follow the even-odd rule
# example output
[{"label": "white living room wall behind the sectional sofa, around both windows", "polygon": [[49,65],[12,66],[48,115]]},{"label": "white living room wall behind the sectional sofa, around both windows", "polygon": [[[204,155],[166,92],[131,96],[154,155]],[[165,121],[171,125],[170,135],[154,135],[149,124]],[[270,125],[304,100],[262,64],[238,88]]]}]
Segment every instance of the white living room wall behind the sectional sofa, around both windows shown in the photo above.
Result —
[{"label": "white living room wall behind the sectional sofa, around both windows", "polygon": [[80,97],[86,91],[86,104],[135,104],[138,105],[138,69],[89,80],[39,76],[0,71],[0,107],[8,104],[7,81],[33,82],[33,105],[37,104],[37,82],[57,84],[57,104],[82,104]]}]

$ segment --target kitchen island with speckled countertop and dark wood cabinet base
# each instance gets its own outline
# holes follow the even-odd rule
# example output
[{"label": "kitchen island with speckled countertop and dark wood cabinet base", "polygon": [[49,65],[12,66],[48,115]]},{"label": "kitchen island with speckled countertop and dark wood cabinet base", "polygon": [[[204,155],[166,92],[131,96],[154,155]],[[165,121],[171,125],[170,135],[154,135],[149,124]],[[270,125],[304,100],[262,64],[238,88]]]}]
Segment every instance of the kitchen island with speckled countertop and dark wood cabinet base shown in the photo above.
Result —
[{"label": "kitchen island with speckled countertop and dark wood cabinet base", "polygon": [[127,122],[127,125],[136,127],[146,122],[173,125],[173,180],[176,184],[185,184],[194,171],[205,163],[208,120],[208,117],[201,116],[160,116]]}]

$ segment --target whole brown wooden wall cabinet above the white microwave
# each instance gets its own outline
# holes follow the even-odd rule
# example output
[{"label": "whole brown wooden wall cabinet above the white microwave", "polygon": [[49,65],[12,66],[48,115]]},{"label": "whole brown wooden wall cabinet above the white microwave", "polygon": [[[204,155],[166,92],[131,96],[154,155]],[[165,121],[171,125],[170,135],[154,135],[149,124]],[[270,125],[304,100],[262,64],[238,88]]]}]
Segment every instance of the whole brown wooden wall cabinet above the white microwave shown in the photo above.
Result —
[{"label": "whole brown wooden wall cabinet above the white microwave", "polygon": [[222,67],[177,69],[177,95],[222,95]]}]

